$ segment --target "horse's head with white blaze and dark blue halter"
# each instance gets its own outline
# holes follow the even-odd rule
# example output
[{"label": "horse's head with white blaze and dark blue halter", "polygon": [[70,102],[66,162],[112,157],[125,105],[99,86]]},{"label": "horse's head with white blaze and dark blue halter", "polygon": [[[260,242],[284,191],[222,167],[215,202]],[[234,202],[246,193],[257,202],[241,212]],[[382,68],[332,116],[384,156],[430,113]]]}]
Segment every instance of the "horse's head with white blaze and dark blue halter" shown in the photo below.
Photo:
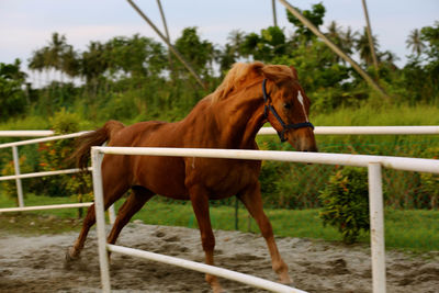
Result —
[{"label": "horse's head with white blaze and dark blue halter", "polygon": [[261,68],[264,115],[282,142],[296,150],[317,151],[314,126],[308,120],[309,99],[293,67],[267,65]]}]

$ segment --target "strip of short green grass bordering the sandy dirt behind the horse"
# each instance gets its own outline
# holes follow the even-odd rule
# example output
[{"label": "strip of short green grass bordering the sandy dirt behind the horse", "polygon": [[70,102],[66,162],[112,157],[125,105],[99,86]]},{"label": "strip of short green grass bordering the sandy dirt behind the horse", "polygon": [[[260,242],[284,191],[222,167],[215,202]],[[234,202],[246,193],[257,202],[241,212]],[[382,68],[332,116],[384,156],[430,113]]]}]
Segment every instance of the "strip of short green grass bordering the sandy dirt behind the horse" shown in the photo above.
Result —
[{"label": "strip of short green grass bordering the sandy dirt behind the horse", "polygon": [[[29,195],[25,204],[43,205],[72,202],[68,198],[45,198]],[[122,204],[117,202],[116,206]],[[14,201],[0,196],[0,207],[14,206]],[[339,233],[333,227],[324,227],[318,217],[318,210],[266,210],[271,219],[274,234],[284,237],[304,237],[340,241]],[[0,214],[0,232],[23,234],[46,234],[78,230],[80,221],[78,210],[65,209],[53,211]],[[235,229],[235,210],[230,206],[211,207],[214,229]],[[151,200],[134,219],[145,224],[185,226],[196,228],[196,221],[189,203],[165,203]],[[255,222],[249,222],[248,213],[239,209],[239,230],[259,233]],[[362,234],[360,243],[369,243],[369,234]],[[439,250],[439,211],[385,211],[385,244],[387,249],[409,251]]]}]

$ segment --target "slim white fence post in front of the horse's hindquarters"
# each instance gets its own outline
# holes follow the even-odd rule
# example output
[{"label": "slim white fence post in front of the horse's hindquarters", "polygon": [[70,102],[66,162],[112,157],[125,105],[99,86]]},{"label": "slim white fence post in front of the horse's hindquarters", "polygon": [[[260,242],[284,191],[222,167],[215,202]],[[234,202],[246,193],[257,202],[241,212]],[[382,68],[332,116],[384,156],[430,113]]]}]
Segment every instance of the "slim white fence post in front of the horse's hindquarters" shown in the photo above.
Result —
[{"label": "slim white fence post in front of the horse's hindquarters", "polygon": [[105,234],[105,215],[103,202],[103,188],[102,188],[102,158],[103,154],[99,150],[91,148],[91,167],[93,172],[93,192],[94,192],[94,211],[97,219],[98,233],[98,250],[99,262],[101,268],[101,284],[102,292],[108,293],[111,291],[110,284],[110,269],[109,259],[106,253],[106,234]]}]

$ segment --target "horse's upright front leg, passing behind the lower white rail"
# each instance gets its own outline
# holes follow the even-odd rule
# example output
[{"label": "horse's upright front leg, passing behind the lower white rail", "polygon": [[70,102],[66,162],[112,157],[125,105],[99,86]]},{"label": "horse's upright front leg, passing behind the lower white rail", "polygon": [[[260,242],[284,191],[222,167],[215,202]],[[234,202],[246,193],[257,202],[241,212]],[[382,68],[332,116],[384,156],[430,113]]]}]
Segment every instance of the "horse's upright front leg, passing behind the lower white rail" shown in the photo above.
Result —
[{"label": "horse's upright front leg, passing behind the lower white rail", "polygon": [[[201,243],[205,253],[205,263],[214,266],[213,251],[215,248],[215,236],[212,232],[211,217],[209,214],[209,195],[204,188],[194,185],[189,190],[193,212],[200,227]],[[219,281],[215,275],[206,274],[205,280],[211,285],[213,292],[223,292]]]}]

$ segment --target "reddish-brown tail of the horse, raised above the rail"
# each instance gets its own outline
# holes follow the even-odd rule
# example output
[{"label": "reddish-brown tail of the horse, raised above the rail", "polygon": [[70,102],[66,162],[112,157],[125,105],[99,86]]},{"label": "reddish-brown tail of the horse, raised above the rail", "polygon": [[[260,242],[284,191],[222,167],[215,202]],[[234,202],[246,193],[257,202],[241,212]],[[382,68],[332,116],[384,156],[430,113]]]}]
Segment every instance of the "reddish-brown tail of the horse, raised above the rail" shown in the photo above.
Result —
[{"label": "reddish-brown tail of the horse, raised above the rail", "polygon": [[110,140],[116,132],[124,127],[125,126],[121,122],[111,120],[101,128],[79,136],[77,139],[76,150],[70,158],[76,161],[76,165],[79,169],[87,169],[88,161],[90,159],[91,147],[101,146],[103,143]]}]

